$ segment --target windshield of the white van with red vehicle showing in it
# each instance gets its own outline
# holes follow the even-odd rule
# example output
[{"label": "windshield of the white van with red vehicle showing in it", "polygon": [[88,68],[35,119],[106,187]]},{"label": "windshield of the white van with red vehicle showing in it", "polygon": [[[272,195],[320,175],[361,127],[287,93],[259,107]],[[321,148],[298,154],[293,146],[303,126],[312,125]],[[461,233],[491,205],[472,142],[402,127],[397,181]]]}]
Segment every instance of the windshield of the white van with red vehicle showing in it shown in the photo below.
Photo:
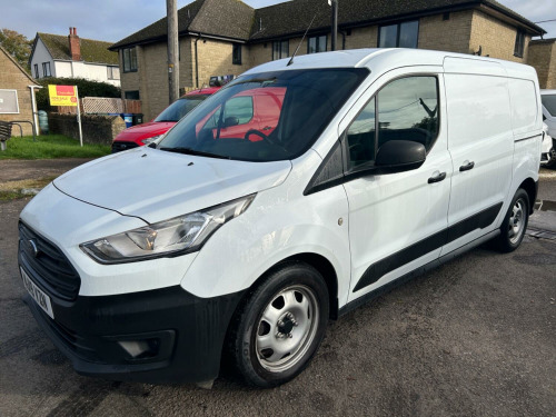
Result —
[{"label": "windshield of the white van with red vehicle showing in it", "polygon": [[368,73],[331,68],[242,76],[189,112],[158,148],[246,161],[297,158]]}]

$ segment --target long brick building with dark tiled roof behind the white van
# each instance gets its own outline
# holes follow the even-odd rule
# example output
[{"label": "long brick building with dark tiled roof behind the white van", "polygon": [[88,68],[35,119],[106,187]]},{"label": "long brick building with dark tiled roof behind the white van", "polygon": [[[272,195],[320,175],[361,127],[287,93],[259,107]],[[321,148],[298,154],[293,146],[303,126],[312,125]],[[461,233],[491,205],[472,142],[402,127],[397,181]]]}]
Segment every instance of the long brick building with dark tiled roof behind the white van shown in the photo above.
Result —
[{"label": "long brick building with dark tiled roof behind the white van", "polygon": [[[211,76],[237,76],[291,56],[314,16],[298,54],[330,50],[325,0],[261,9],[238,0],[193,1],[178,11],[180,87],[197,88]],[[527,63],[532,37],[544,33],[495,0],[341,0],[337,49],[421,48]],[[146,118],[155,117],[168,105],[166,19],[110,50],[119,53],[122,96],[141,99]]]}]

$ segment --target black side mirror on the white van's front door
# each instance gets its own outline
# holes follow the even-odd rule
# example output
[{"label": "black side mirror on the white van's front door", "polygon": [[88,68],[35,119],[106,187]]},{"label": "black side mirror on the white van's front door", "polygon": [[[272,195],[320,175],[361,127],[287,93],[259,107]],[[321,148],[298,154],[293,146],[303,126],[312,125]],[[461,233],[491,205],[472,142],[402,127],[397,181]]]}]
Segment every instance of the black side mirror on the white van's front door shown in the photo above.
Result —
[{"label": "black side mirror on the white van's front door", "polygon": [[425,146],[413,140],[390,140],[377,152],[375,167],[381,172],[394,173],[419,168],[427,158]]}]

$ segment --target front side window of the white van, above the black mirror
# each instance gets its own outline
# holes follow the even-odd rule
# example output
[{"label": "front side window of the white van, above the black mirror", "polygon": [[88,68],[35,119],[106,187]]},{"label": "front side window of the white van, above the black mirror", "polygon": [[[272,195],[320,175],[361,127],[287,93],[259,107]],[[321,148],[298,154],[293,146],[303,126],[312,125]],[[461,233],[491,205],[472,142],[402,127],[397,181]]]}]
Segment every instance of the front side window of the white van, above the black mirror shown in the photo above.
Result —
[{"label": "front side window of the white van, above the black mirror", "polygon": [[438,135],[438,111],[436,77],[406,77],[386,85],[347,130],[348,168],[374,166],[378,149],[390,140],[413,140],[428,151]]}]

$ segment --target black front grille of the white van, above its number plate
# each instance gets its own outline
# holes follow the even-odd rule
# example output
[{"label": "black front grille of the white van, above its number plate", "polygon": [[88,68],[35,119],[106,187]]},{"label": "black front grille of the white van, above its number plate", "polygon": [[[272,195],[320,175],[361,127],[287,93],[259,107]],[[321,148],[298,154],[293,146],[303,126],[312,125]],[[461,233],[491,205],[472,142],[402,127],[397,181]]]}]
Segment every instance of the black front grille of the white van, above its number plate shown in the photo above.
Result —
[{"label": "black front grille of the white van, above its number plate", "polygon": [[75,300],[81,279],[60,249],[29,227],[19,224],[19,252],[23,267],[48,294]]}]

